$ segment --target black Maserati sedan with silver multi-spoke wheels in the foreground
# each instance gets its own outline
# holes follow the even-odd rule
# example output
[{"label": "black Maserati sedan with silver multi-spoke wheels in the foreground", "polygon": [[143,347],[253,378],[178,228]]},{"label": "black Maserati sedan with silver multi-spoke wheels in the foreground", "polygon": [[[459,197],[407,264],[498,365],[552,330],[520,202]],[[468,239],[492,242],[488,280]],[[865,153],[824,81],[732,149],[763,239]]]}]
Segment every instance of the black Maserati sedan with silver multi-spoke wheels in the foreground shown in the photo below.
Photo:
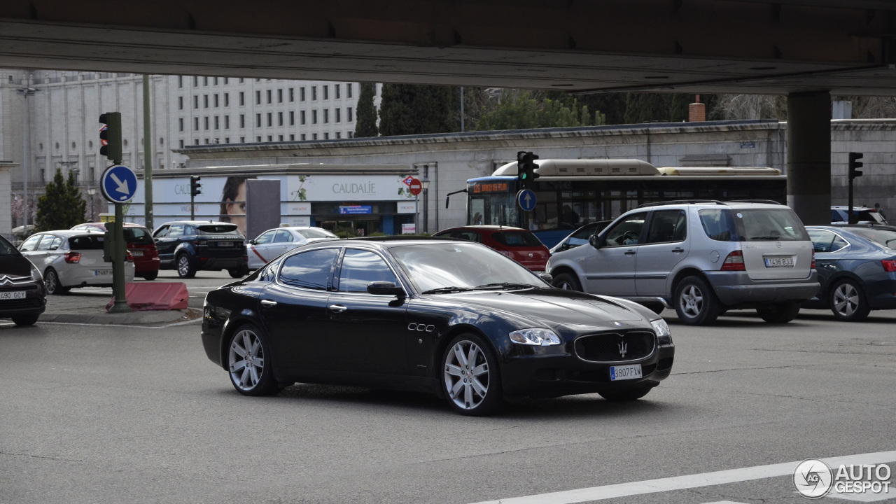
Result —
[{"label": "black Maserati sedan with silver multi-spoke wheels in the foreground", "polygon": [[478,243],[393,237],[312,243],[209,292],[202,344],[244,395],[420,390],[473,415],[524,396],[638,399],[675,356],[647,308],[554,289]]}]

